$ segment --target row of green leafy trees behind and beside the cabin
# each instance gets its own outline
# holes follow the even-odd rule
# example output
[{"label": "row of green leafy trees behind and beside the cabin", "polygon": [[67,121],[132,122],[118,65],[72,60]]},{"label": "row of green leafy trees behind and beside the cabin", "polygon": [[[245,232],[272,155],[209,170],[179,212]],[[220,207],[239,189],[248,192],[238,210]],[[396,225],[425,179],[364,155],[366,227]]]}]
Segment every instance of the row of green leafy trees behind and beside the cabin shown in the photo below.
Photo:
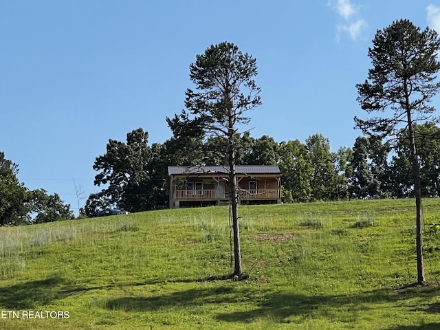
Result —
[{"label": "row of green leafy trees behind and beside the cabin", "polygon": [[[137,129],[126,142],[109,140],[107,153],[96,158],[96,186],[84,212],[118,206],[130,212],[168,207],[168,165],[225,165],[228,159],[223,137],[190,137],[168,124],[174,132],[163,144],[148,145],[148,133]],[[423,197],[440,195],[440,129],[432,122],[416,125]],[[397,140],[382,141],[360,136],[352,147],[330,151],[329,139],[311,135],[299,140],[276,142],[263,135],[237,135],[236,164],[278,165],[283,177],[284,203],[412,197],[410,149],[405,131]],[[393,147],[393,148],[392,148]],[[393,150],[393,153],[391,151]]]}]

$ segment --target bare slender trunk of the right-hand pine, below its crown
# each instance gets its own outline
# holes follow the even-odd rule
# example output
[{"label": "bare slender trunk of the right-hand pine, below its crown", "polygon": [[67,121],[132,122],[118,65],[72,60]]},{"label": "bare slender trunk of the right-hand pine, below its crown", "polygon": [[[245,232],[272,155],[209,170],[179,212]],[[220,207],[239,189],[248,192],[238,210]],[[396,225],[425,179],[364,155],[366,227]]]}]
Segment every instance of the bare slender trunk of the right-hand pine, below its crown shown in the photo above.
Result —
[{"label": "bare slender trunk of the right-hand pine, below its crown", "polygon": [[412,175],[414,176],[414,195],[415,195],[415,223],[416,223],[416,254],[417,254],[417,283],[426,284],[425,269],[423,267],[423,250],[422,250],[422,224],[421,224],[421,184],[420,184],[420,165],[417,159],[417,148],[415,145],[414,129],[412,127],[411,113],[408,114],[408,135],[410,139]]}]

